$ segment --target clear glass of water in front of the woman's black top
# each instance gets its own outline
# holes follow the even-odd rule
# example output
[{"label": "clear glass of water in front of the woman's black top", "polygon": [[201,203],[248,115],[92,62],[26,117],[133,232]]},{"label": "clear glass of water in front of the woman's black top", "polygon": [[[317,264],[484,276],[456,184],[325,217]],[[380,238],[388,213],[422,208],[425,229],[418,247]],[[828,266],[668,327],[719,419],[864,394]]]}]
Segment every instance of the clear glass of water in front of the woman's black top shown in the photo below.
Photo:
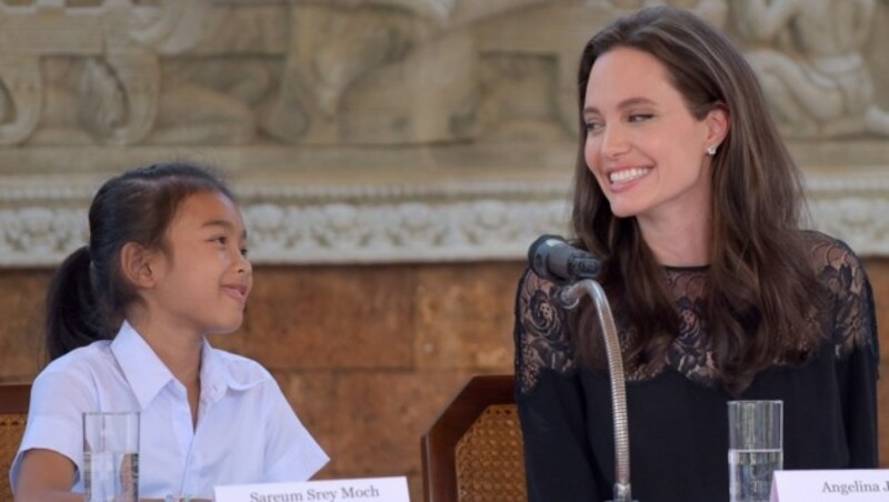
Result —
[{"label": "clear glass of water in front of the woman's black top", "polygon": [[768,502],[783,468],[783,402],[729,401],[729,500]]}]

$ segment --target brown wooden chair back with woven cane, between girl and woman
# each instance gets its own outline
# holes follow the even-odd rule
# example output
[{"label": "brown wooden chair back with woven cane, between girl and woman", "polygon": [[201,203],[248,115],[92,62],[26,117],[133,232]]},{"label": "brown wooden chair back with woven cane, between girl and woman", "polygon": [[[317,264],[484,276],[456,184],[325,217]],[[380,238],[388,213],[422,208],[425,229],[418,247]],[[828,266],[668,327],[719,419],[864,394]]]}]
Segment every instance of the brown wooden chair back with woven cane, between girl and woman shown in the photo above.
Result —
[{"label": "brown wooden chair back with woven cane, between girl and woman", "polygon": [[426,502],[527,501],[512,375],[479,375],[422,436]]}]

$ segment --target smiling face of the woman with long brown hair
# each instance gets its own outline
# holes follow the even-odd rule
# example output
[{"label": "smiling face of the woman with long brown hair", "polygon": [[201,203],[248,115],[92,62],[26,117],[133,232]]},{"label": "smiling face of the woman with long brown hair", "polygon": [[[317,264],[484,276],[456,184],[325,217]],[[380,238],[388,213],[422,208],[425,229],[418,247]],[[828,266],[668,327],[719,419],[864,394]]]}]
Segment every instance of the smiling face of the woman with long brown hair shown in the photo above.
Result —
[{"label": "smiling face of the woman with long brown hair", "polygon": [[583,107],[588,168],[618,217],[640,224],[709,214],[710,155],[727,117],[689,111],[666,67],[653,56],[619,47],[590,72]]}]

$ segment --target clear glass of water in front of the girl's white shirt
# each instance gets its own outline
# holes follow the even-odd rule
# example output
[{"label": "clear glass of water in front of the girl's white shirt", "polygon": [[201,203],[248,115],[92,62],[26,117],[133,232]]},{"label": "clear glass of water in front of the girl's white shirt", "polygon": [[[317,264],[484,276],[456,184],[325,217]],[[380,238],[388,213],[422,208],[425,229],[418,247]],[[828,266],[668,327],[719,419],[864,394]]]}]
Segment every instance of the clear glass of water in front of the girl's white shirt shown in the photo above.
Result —
[{"label": "clear glass of water in front of the girl's white shirt", "polygon": [[83,413],[86,502],[139,499],[139,412]]}]

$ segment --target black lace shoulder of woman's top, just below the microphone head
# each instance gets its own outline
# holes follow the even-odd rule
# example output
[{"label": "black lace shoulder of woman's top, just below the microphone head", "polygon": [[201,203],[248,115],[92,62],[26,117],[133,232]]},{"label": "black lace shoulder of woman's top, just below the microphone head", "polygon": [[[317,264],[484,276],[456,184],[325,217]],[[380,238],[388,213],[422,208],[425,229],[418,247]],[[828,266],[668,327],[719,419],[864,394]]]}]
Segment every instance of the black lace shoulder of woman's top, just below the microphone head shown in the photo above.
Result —
[{"label": "black lace shoulder of woman's top, just below the microphone head", "polygon": [[540,371],[575,368],[566,314],[553,298],[556,285],[528,270],[516,298],[516,379],[522,394],[537,384]]}]

